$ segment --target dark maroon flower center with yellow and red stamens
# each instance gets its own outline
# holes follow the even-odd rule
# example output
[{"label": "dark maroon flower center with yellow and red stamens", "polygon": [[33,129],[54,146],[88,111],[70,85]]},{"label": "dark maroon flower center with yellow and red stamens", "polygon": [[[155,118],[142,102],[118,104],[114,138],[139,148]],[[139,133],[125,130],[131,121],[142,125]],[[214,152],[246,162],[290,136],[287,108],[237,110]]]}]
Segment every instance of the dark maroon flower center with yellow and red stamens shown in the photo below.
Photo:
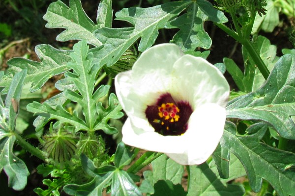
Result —
[{"label": "dark maroon flower center with yellow and red stamens", "polygon": [[162,95],[156,105],[148,105],[146,117],[161,135],[182,135],[193,110],[186,101],[176,102],[170,93]]}]

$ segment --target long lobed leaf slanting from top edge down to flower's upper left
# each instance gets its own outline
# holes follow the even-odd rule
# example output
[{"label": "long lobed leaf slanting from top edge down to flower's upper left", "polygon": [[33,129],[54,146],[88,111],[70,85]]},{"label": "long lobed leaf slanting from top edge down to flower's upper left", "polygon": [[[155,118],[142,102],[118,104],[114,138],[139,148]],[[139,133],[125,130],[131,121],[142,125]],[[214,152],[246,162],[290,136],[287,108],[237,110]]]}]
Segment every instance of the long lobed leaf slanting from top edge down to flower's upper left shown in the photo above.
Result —
[{"label": "long lobed leaf slanting from top edge down to flower's upper left", "polygon": [[124,8],[116,13],[115,20],[129,22],[134,27],[103,27],[96,30],[94,34],[104,44],[104,47],[90,51],[93,52],[99,64],[107,64],[107,67],[115,64],[139,38],[141,41],[138,50],[144,51],[154,44],[158,36],[158,29],[172,28],[173,26],[169,25],[170,21],[191,3],[192,1],[186,0],[167,2],[148,8]]}]

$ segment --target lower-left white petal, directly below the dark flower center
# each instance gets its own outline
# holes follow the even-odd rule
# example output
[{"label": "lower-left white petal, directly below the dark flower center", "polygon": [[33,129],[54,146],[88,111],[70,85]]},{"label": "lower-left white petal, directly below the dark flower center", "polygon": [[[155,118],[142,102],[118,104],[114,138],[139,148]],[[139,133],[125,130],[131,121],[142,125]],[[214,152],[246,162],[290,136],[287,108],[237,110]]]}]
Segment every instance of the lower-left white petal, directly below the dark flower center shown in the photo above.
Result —
[{"label": "lower-left white petal, directly below the dark flower center", "polygon": [[133,125],[128,118],[122,128],[122,141],[133,147],[155,152],[179,153],[187,149],[187,141],[183,136],[163,136],[156,132],[146,131]]}]

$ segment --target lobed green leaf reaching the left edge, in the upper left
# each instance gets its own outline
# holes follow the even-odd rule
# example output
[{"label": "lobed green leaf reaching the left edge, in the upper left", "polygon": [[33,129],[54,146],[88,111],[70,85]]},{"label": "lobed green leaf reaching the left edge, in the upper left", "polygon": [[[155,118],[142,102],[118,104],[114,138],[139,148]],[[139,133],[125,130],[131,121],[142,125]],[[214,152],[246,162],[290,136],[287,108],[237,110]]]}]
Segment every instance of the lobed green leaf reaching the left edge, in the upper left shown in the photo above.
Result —
[{"label": "lobed green leaf reaching the left edge, in the upper left", "polygon": [[13,76],[22,70],[27,69],[28,74],[24,83],[32,82],[30,92],[34,92],[40,89],[52,76],[64,73],[70,69],[66,66],[66,63],[71,60],[69,56],[70,50],[59,50],[50,45],[38,45],[35,48],[35,52],[41,59],[41,62],[20,57],[7,61],[9,69],[0,82],[0,86],[5,87],[2,93],[8,91]]}]

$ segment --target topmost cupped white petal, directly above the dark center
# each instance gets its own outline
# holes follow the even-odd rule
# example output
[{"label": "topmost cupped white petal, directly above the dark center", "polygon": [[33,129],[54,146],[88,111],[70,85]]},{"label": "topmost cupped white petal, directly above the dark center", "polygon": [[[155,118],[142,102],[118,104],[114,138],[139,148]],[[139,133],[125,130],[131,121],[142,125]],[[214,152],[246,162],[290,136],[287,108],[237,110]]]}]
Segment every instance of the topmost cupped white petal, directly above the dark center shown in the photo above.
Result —
[{"label": "topmost cupped white petal, directly above the dark center", "polygon": [[155,104],[159,96],[167,93],[173,65],[182,55],[175,44],[160,44],[141,54],[132,68],[132,82],[144,103]]}]

